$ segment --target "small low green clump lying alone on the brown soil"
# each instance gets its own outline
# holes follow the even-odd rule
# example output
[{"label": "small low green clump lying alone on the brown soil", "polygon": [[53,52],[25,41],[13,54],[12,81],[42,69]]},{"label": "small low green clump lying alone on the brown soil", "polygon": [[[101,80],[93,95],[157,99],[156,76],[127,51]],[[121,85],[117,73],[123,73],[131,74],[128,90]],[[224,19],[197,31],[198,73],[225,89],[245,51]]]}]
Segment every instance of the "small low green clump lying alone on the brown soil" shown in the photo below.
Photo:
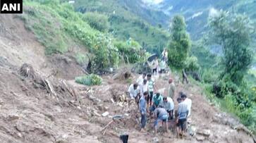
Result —
[{"label": "small low green clump lying alone on the brown soil", "polygon": [[99,77],[99,75],[90,74],[90,75],[84,75],[81,77],[75,77],[75,82],[82,84],[82,85],[102,85],[102,77]]}]

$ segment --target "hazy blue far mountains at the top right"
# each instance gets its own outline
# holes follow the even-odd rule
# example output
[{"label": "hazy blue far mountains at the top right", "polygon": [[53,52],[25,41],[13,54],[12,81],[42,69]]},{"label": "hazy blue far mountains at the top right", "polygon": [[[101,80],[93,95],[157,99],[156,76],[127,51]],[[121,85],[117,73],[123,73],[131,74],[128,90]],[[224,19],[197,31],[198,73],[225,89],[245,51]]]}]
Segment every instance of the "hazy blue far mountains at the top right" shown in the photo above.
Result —
[{"label": "hazy blue far mountains at the top right", "polygon": [[166,20],[171,19],[176,14],[184,15],[188,25],[188,32],[192,35],[192,39],[200,39],[202,37],[206,30],[209,11],[212,8],[245,13],[252,20],[256,20],[255,0],[163,0],[159,4],[145,3],[145,5],[151,8],[152,11],[161,11],[168,15],[169,18]]}]

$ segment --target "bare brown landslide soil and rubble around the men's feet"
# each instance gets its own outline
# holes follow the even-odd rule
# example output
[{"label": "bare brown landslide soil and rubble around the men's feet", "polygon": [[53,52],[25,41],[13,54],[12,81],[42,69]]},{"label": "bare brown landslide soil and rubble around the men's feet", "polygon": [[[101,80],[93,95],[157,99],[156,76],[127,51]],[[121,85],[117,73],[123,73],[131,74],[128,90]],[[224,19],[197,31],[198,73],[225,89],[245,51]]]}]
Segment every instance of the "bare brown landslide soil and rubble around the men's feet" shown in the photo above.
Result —
[{"label": "bare brown landslide soil and rubble around the men's feet", "polygon": [[[103,77],[100,86],[76,84],[73,77],[83,74],[83,70],[72,56],[44,56],[44,47],[25,30],[22,21],[11,15],[0,15],[0,50],[1,142],[112,143],[121,142],[119,135],[125,133],[129,135],[128,142],[136,143],[254,142],[236,118],[222,113],[205,99],[200,87],[178,83],[178,77],[172,74],[155,77],[157,89],[166,94],[168,78],[177,79],[176,96],[183,91],[193,101],[190,129],[195,129],[195,135],[187,133],[185,139],[177,139],[173,121],[169,133],[159,128],[155,136],[154,120],[147,123],[147,132],[140,132],[137,105],[125,96],[129,86],[126,80],[113,80],[113,75],[108,75]],[[23,63],[29,63],[42,77],[65,81],[75,89],[77,96],[57,88],[54,88],[57,96],[53,96],[49,90],[36,86],[34,79],[18,72]],[[133,81],[136,77],[138,75],[131,76]],[[102,116],[106,111],[109,115]],[[103,130],[117,115],[122,118],[115,119]]]}]

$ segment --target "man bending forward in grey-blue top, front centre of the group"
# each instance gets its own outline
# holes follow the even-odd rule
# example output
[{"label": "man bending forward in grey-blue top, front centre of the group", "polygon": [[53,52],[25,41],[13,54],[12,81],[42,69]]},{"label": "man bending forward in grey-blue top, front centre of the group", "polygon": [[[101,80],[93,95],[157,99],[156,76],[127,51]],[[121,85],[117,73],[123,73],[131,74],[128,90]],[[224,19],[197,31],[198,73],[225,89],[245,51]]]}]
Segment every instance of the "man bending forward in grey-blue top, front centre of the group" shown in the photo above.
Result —
[{"label": "man bending forward in grey-blue top, front centre of the group", "polygon": [[168,132],[168,115],[163,106],[159,105],[159,107],[154,110],[154,117],[156,118],[156,120],[154,121],[154,134],[157,134],[157,125],[159,121],[165,123],[166,132]]}]

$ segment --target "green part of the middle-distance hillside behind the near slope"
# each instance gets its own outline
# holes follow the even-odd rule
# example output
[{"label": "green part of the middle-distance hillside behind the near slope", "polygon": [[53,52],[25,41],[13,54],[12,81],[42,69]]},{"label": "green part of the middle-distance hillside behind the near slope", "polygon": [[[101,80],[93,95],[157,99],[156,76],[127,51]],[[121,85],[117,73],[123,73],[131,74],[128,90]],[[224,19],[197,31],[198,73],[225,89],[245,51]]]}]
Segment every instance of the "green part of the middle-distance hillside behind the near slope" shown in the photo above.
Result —
[{"label": "green part of the middle-distance hillside behind the near slope", "polygon": [[[133,4],[133,9],[127,7]],[[137,8],[138,1],[114,1],[114,0],[78,0],[75,1],[75,10],[80,13],[91,13],[97,11],[108,15],[110,28],[109,32],[119,40],[127,41],[130,37],[139,42],[143,49],[150,53],[161,54],[162,49],[168,39],[168,34],[159,27],[152,25],[142,20],[134,12]],[[140,12],[138,12],[140,13]],[[148,18],[151,18],[149,15]]]}]

